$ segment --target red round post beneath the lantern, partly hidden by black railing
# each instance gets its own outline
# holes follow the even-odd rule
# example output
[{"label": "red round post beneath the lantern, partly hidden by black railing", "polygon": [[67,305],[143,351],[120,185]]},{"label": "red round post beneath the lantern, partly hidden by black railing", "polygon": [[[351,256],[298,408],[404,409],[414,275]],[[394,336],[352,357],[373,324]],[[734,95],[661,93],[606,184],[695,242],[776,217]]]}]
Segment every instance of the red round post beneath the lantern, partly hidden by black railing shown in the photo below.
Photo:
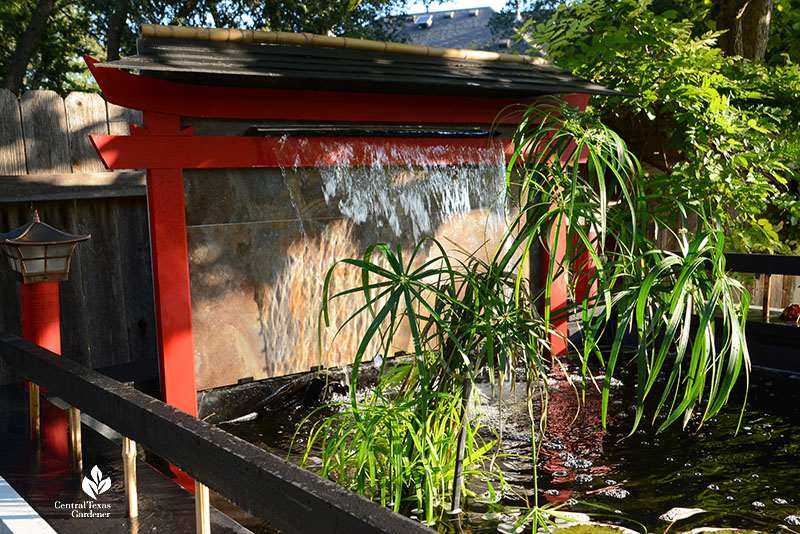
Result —
[{"label": "red round post beneath the lantern, partly hidden by black railing", "polygon": [[[22,337],[61,354],[61,314],[58,282],[20,284]],[[41,437],[49,457],[69,461],[69,416],[47,400],[41,401]]]}]

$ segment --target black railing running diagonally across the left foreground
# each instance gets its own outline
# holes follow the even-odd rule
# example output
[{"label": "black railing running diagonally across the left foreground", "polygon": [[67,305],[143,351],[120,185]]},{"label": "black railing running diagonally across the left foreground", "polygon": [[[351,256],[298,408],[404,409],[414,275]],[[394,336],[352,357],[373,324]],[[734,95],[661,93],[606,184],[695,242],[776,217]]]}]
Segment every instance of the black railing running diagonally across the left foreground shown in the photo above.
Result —
[{"label": "black railing running diagonally across the left foreground", "polygon": [[142,444],[281,532],[432,532],[417,521],[18,336],[0,332],[0,356],[24,378]]}]

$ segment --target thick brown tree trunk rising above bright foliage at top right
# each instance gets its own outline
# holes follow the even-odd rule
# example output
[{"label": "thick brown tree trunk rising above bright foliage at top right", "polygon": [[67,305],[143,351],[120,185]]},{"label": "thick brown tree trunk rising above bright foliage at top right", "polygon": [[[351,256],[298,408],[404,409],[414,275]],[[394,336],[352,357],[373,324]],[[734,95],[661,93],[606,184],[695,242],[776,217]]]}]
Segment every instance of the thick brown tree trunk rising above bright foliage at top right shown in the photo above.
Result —
[{"label": "thick brown tree trunk rising above bright foliage at top right", "polygon": [[762,61],[774,0],[715,0],[719,47],[729,56]]}]

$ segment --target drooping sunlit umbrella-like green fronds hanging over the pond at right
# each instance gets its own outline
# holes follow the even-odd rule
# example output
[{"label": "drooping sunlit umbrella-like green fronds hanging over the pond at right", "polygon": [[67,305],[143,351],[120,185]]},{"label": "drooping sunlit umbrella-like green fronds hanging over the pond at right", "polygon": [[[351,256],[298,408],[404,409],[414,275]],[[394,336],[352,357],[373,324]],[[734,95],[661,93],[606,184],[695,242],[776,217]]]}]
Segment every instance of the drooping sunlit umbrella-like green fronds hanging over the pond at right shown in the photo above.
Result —
[{"label": "drooping sunlit umbrella-like green fronds hanging over the pond at right", "polygon": [[[584,310],[586,332],[614,333],[608,355],[601,357],[606,368],[603,421],[611,377],[627,359],[626,336],[635,339],[639,370],[634,429],[652,397],[657,399],[652,416],[666,412],[661,429],[678,420],[686,424],[695,415],[700,423],[712,417],[749,367],[744,341],[749,297],[725,272],[724,237],[715,220],[695,212],[697,230],[689,235],[681,225],[677,251],[657,248],[647,227],[664,228],[668,221],[648,210],[650,194],[636,159],[590,114],[563,105],[531,108],[515,141],[519,168],[509,176],[519,181],[510,185],[520,191],[519,211],[524,214],[516,233],[538,242],[547,224],[556,220],[553,214],[561,213],[570,221],[567,243],[588,247],[597,269],[597,297],[573,306]],[[679,197],[661,202],[682,221],[693,209]],[[760,226],[767,231],[768,224],[765,220]],[[587,239],[588,228],[598,233],[593,243]],[[565,261],[574,262],[582,248],[573,247]],[[558,267],[551,262],[542,295],[545,306]],[[596,337],[585,339],[584,358],[597,354]],[[657,387],[659,378],[664,385]]]}]

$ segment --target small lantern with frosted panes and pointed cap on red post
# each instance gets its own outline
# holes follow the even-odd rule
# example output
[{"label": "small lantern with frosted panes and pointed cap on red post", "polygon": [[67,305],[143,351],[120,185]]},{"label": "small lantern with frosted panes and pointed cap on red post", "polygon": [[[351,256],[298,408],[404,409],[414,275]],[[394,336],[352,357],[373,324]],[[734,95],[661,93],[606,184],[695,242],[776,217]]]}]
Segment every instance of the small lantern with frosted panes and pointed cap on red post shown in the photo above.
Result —
[{"label": "small lantern with frosted panes and pointed cap on red post", "polygon": [[59,282],[69,275],[75,245],[90,237],[56,230],[41,222],[39,212],[34,212],[33,222],[0,234],[0,248],[23,284]]}]

